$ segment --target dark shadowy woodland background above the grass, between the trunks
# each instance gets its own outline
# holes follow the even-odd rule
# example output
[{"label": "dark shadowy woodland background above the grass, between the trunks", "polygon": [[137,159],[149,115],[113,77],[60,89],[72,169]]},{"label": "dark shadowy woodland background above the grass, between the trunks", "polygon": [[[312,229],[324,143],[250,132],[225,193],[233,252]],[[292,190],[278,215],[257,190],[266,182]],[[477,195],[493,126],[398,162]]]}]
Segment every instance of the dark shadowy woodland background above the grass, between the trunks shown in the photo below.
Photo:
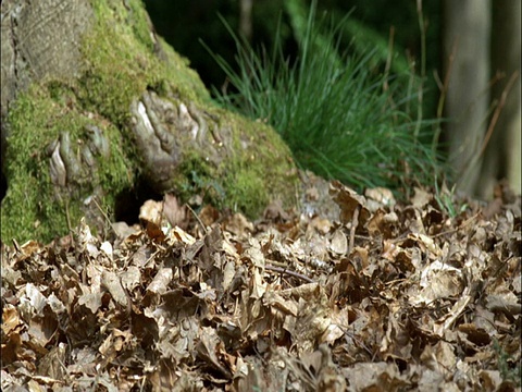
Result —
[{"label": "dark shadowy woodland background above the grass, between the trunks", "polygon": [[[300,3],[288,0],[254,0],[252,9],[252,47],[263,46],[270,52],[274,45],[274,32],[281,17],[281,38],[288,56],[296,54],[297,42],[289,23],[288,8],[284,3]],[[234,63],[236,48],[234,39],[223,23],[216,17],[221,14],[226,23],[237,32],[239,17],[238,0],[146,0],[145,4],[157,32],[163,36],[179,53],[186,56],[201,76],[203,83],[221,87],[225,81],[224,72],[215,65],[208,51],[199,44],[204,41],[214,53],[222,56],[229,64]],[[303,0],[307,7],[310,1]],[[345,41],[357,39],[360,46],[374,47],[376,41],[387,47],[390,27],[395,27],[396,66],[407,64],[407,58],[420,59],[421,39],[415,0],[320,0],[318,15],[326,11],[334,20],[340,20],[350,13],[351,24]],[[426,22],[426,95],[425,113],[435,115],[438,91],[433,72],[440,70],[440,23],[439,1],[424,1],[423,14]],[[351,35],[351,37],[350,37]],[[419,61],[417,61],[419,64]]]}]

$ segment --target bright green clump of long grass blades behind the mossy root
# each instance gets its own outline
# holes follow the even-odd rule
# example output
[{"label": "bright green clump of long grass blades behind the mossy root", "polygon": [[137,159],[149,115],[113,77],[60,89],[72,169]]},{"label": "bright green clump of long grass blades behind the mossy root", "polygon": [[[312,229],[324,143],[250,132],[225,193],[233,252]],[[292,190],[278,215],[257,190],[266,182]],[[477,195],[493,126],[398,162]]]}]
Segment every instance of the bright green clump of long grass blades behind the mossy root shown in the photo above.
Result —
[{"label": "bright green clump of long grass blades behind the mossy root", "polygon": [[371,50],[343,52],[343,23],[318,24],[312,3],[294,62],[283,53],[278,30],[270,56],[231,30],[238,71],[212,56],[236,91],[214,94],[229,109],[272,125],[302,169],[357,188],[433,185],[437,159],[420,142],[430,122],[412,120],[406,109],[417,101],[406,93],[413,76],[386,75]]}]

